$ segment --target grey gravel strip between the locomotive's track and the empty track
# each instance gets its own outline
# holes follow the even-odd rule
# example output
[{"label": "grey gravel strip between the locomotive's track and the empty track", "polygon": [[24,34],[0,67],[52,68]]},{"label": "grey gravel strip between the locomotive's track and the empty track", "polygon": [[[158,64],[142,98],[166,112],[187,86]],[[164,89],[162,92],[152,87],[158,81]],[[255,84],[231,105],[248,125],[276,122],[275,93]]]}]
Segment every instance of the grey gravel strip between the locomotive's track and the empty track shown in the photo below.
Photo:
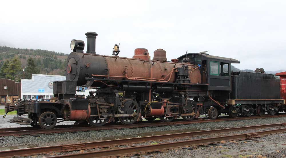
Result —
[{"label": "grey gravel strip between the locomotive's track and the empty track", "polygon": [[[2,120],[2,119],[0,119]],[[198,124],[186,124],[176,126],[157,126],[146,128],[126,128],[115,130],[101,130],[101,131],[88,131],[88,132],[65,132],[62,134],[45,135],[39,134],[39,136],[25,135],[23,138],[16,138],[14,136],[0,137],[4,139],[5,143],[0,143],[0,147],[17,146],[17,145],[31,145],[34,146],[49,146],[49,145],[62,145],[71,143],[82,143],[89,141],[98,141],[106,139],[118,139],[128,137],[139,137],[149,135],[160,135],[177,132],[192,132],[198,130],[210,130],[218,128],[232,128],[241,126],[254,126],[262,124],[284,123],[286,117],[281,118],[267,118],[267,119],[253,119],[253,120],[237,120],[229,122],[209,122]],[[2,141],[3,142],[3,141]],[[1,148],[0,148],[1,150]]]}]

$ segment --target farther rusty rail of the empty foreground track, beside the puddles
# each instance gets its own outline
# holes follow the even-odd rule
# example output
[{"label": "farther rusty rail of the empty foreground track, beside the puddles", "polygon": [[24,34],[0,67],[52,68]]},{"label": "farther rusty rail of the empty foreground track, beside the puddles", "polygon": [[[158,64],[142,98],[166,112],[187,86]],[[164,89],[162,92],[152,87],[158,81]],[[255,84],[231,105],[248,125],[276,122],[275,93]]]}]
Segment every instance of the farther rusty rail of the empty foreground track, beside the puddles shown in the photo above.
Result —
[{"label": "farther rusty rail of the empty foreground track, beside the puddles", "polygon": [[280,127],[280,126],[286,126],[286,123],[246,126],[246,127],[237,127],[237,128],[225,128],[225,129],[219,129],[219,130],[206,130],[206,131],[197,131],[197,132],[185,132],[185,133],[147,136],[147,137],[138,137],[138,138],[114,139],[114,140],[95,141],[95,142],[77,143],[77,144],[68,144],[68,145],[55,145],[55,146],[47,146],[47,147],[15,149],[15,150],[0,151],[0,158],[13,157],[13,156],[29,156],[29,155],[36,155],[38,153],[43,154],[43,153],[50,153],[50,152],[67,152],[67,151],[75,151],[75,150],[92,149],[92,148],[97,148],[97,147],[108,147],[108,146],[116,146],[116,145],[142,143],[146,141],[178,139],[178,138],[186,138],[186,137],[192,137],[192,136],[235,132],[235,131],[242,131],[242,130],[254,130],[254,129]]}]

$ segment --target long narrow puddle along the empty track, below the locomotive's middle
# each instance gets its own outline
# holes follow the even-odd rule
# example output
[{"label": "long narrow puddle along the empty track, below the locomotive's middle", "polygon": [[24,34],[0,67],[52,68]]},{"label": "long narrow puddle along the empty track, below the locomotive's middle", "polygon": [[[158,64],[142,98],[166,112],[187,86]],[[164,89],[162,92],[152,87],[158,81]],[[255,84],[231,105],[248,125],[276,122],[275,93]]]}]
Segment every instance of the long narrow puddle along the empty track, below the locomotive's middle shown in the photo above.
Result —
[{"label": "long narrow puddle along the empty track, below the locomotive's middle", "polygon": [[176,133],[197,132],[197,131],[218,130],[218,129],[223,129],[223,128],[202,128],[202,129],[187,129],[187,130],[157,131],[157,132],[140,133],[140,134],[135,134],[135,135],[127,135],[127,136],[104,137],[101,140],[139,138],[139,137],[158,136],[158,135],[165,135],[165,134],[176,134]]}]

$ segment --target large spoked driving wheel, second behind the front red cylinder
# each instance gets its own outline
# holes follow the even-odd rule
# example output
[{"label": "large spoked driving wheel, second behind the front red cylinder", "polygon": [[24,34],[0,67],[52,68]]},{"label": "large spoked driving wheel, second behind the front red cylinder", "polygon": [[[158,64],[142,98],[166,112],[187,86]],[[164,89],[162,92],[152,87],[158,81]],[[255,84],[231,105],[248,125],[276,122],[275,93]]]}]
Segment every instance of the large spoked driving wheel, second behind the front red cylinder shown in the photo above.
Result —
[{"label": "large spoked driving wheel, second behind the front red cylinder", "polygon": [[122,116],[118,117],[122,124],[134,124],[139,118],[139,106],[132,99],[125,99],[123,101],[123,106],[118,111],[118,114],[132,114],[132,116]]}]

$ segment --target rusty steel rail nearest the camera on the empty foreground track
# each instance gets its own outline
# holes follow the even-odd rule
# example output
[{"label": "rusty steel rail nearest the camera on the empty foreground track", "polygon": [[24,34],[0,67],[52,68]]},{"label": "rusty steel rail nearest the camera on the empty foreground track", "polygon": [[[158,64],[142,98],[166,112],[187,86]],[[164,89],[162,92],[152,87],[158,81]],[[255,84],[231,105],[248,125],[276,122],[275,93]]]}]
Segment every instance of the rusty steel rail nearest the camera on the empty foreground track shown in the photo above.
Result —
[{"label": "rusty steel rail nearest the camera on the empty foreground track", "polygon": [[286,131],[286,128],[281,128],[281,129],[267,130],[267,131],[255,132],[255,133],[237,134],[237,135],[231,135],[231,136],[221,136],[221,137],[186,140],[186,141],[176,141],[176,142],[171,142],[171,143],[162,143],[162,144],[155,144],[155,145],[142,145],[142,146],[136,146],[136,147],[119,148],[119,149],[102,150],[102,151],[92,151],[92,152],[86,152],[86,153],[53,156],[53,157],[49,157],[49,158],[116,157],[116,156],[122,156],[122,155],[132,155],[132,154],[138,154],[138,153],[147,153],[147,152],[168,150],[168,149],[174,149],[174,148],[178,148],[178,147],[186,147],[186,146],[190,146],[190,145],[203,145],[203,144],[217,143],[217,142],[221,142],[221,141],[231,141],[231,140],[237,140],[237,139],[256,138],[259,136],[266,136],[269,134],[281,133],[281,132],[285,132],[285,131]]}]

